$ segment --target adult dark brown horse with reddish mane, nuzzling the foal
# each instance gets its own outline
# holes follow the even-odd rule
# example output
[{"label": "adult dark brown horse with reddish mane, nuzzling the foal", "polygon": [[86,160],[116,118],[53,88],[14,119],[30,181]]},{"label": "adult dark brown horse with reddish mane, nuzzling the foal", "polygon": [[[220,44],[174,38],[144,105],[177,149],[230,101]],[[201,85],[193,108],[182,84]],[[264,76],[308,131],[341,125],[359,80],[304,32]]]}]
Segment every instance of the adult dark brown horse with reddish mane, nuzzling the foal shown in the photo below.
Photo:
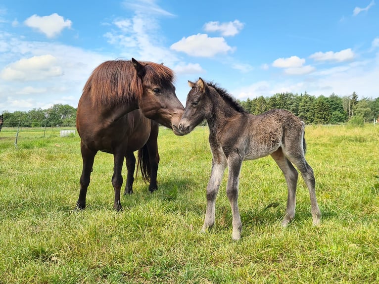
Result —
[{"label": "adult dark brown horse with reddish mane, nuzzling the foal", "polygon": [[184,107],[175,94],[174,73],[153,62],[106,61],[95,68],[79,100],[76,128],[81,138],[83,170],[77,207],[86,207],[87,189],[97,151],[113,154],[113,208],[121,210],[124,158],[128,170],[125,193],[133,192],[139,150],[142,176],[157,189],[158,123],[177,132]]}]

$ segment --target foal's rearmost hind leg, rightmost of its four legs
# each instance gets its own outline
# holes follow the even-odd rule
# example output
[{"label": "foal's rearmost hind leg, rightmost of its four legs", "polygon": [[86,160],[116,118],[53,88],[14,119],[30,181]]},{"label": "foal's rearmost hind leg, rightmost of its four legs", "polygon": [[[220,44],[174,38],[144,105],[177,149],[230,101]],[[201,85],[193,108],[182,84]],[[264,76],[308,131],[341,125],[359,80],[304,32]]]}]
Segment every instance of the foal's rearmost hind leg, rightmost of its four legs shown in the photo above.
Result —
[{"label": "foal's rearmost hind leg, rightmost of its four legs", "polygon": [[311,199],[311,213],[313,225],[318,226],[321,223],[321,212],[316,198],[315,176],[313,169],[305,160],[304,155],[294,154],[287,155],[287,158],[299,169],[301,176],[304,179],[305,185],[308,188]]}]

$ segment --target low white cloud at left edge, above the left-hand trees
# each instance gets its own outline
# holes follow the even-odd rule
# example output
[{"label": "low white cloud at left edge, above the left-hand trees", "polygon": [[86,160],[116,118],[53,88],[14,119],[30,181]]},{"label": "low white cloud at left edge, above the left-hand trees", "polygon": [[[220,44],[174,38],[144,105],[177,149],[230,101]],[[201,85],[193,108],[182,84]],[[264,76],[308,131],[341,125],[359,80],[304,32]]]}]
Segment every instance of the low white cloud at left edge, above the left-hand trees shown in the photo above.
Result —
[{"label": "low white cloud at left edge, above the left-hand trees", "polygon": [[31,81],[43,80],[62,74],[63,71],[57,64],[57,59],[47,54],[20,59],[17,62],[7,65],[1,71],[0,78],[5,81]]}]

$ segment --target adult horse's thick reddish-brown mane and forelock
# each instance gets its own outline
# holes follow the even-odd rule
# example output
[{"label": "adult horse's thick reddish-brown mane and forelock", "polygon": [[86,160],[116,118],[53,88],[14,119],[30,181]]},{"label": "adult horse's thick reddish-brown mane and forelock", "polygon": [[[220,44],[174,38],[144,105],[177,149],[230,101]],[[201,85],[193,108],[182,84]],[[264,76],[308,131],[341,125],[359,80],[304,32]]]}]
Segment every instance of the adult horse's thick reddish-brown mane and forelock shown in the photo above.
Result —
[{"label": "adult horse's thick reddish-brown mane and forelock", "polygon": [[[174,72],[154,62],[139,61],[145,67],[143,80],[165,86],[175,79]],[[94,105],[111,107],[142,96],[142,80],[131,60],[110,60],[98,65],[88,78],[83,94],[90,93]]]}]

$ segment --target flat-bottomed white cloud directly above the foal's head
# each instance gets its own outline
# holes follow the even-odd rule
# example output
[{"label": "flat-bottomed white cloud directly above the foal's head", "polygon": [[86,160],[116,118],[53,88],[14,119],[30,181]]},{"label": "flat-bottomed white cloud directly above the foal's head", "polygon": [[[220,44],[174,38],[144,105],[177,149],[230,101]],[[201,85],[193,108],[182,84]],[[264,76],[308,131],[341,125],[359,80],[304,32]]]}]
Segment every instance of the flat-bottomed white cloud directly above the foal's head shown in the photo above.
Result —
[{"label": "flat-bottomed white cloud directly above the foal's head", "polygon": [[235,48],[228,46],[222,37],[209,38],[206,34],[197,34],[183,38],[173,44],[171,49],[183,51],[191,56],[213,57],[218,53],[233,52]]}]

